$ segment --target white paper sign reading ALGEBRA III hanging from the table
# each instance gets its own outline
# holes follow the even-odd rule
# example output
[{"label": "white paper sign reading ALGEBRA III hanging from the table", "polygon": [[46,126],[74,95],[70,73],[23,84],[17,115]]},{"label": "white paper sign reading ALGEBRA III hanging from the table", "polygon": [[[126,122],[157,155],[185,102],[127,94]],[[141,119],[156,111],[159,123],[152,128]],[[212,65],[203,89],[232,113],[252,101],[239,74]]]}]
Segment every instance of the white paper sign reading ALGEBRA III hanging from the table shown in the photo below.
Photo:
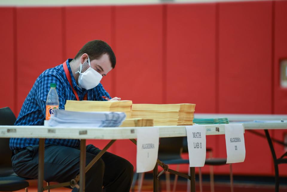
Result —
[{"label": "white paper sign reading ALGEBRA III hanging from the table", "polygon": [[243,124],[225,125],[226,163],[239,163],[245,159],[245,142]]}]

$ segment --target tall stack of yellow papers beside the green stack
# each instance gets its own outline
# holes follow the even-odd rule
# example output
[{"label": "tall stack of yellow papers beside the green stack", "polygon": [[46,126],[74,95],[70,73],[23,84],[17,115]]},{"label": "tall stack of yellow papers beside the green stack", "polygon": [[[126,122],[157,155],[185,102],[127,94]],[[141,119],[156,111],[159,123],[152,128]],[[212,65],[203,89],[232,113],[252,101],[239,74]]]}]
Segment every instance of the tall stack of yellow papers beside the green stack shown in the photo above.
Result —
[{"label": "tall stack of yellow papers beside the green stack", "polygon": [[132,118],[154,119],[154,126],[193,125],[195,104],[132,104]]}]

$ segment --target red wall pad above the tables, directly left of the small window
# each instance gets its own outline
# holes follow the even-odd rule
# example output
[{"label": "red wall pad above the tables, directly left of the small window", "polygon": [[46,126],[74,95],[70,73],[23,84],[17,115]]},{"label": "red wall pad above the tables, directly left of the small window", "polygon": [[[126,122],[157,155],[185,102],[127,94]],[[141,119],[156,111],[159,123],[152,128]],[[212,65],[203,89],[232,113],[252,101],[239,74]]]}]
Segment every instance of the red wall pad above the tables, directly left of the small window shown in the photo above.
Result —
[{"label": "red wall pad above the tables, directly left of the small window", "polygon": [[271,1],[219,5],[219,113],[271,113]]}]

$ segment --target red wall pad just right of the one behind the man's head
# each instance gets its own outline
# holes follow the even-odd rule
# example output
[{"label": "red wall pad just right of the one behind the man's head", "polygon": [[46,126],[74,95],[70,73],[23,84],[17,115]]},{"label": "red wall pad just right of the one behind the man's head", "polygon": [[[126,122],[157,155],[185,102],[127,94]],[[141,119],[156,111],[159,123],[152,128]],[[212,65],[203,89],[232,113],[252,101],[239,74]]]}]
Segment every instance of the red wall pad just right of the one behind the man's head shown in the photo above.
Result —
[{"label": "red wall pad just right of the one behind the man's head", "polygon": [[[162,103],[162,6],[117,6],[115,96],[133,103]],[[116,141],[116,154],[136,165],[136,146]]]}]

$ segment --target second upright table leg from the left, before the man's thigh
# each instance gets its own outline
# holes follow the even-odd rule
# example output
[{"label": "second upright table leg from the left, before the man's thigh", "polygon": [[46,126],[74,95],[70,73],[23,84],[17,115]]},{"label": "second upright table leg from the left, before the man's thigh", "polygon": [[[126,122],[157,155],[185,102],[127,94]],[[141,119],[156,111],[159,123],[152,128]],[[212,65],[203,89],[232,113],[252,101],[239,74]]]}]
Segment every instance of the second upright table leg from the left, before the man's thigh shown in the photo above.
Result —
[{"label": "second upright table leg from the left, before the man's thigh", "polygon": [[85,191],[86,139],[80,141],[80,192]]}]

